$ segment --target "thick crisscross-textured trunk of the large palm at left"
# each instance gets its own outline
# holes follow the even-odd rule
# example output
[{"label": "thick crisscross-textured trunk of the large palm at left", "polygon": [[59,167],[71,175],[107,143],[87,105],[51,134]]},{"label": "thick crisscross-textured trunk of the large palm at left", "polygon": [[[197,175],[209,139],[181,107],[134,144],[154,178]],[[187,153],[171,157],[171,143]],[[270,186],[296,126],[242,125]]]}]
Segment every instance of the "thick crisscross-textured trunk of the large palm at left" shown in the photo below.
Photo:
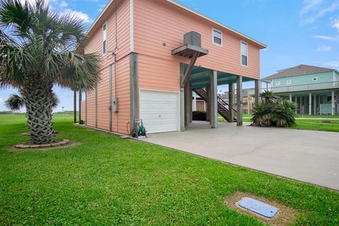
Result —
[{"label": "thick crisscross-textured trunk of the large palm at left", "polygon": [[53,143],[52,106],[54,100],[52,85],[44,85],[37,81],[31,82],[22,90],[31,141],[35,144]]}]

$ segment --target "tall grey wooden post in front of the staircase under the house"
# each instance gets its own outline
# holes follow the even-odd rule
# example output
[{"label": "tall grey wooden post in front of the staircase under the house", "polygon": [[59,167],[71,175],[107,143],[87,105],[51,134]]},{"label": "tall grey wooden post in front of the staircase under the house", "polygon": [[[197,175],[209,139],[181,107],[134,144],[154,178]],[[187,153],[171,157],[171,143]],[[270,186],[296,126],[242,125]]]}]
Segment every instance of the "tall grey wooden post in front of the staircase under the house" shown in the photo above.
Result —
[{"label": "tall grey wooden post in front of the staircase under the house", "polygon": [[210,126],[218,128],[218,71],[210,74]]}]

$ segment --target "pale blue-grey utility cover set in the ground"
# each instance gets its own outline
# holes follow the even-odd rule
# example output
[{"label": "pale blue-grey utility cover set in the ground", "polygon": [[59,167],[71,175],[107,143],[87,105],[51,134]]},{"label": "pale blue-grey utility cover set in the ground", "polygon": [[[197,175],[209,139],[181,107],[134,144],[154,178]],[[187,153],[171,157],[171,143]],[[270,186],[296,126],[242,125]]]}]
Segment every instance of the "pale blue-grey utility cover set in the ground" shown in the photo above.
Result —
[{"label": "pale blue-grey utility cover set in the ground", "polygon": [[254,198],[244,197],[241,201],[239,201],[238,205],[258,215],[262,215],[265,218],[273,218],[275,214],[278,213],[278,208],[270,206]]}]

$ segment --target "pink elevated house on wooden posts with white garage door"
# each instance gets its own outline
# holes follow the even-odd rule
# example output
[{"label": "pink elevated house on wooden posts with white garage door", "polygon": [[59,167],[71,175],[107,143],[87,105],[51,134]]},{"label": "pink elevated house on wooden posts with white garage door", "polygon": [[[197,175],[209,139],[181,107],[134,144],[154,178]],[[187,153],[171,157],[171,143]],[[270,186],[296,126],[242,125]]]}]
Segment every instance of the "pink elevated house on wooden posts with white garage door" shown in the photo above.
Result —
[{"label": "pink elevated house on wooden posts with white garage door", "polygon": [[[89,34],[84,52],[102,55],[102,80],[81,102],[86,126],[130,134],[143,119],[148,133],[184,131],[193,90],[217,128],[218,112],[234,121],[233,103],[219,100],[217,85],[230,84],[232,97],[234,83],[256,81],[258,95],[266,45],[176,1],[109,1]],[[242,102],[237,107],[241,125]]]}]

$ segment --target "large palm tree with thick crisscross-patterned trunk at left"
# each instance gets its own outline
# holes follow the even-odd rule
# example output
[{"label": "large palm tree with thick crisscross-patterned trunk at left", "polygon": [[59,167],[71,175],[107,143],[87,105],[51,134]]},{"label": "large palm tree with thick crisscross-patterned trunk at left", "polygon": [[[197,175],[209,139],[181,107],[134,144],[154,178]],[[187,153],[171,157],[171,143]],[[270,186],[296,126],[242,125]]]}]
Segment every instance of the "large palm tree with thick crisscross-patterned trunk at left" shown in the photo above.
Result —
[{"label": "large palm tree with thick crisscross-patterned trunk at left", "polygon": [[53,13],[44,0],[0,0],[0,88],[23,95],[31,142],[54,142],[53,87],[93,90],[100,57],[83,54],[88,39],[82,20]]}]

